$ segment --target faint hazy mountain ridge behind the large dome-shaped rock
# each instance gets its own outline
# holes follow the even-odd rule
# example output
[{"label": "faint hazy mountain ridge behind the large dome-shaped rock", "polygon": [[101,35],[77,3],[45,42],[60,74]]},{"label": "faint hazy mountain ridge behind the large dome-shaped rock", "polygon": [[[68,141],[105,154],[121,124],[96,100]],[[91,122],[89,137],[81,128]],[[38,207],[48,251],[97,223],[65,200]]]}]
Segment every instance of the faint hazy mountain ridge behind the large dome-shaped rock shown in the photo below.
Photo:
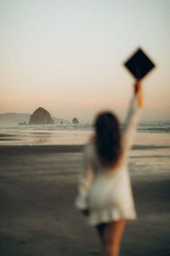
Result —
[{"label": "faint hazy mountain ridge behind the large dome-shaped rock", "polygon": [[[7,112],[0,114],[0,125],[1,126],[13,126],[18,125],[18,123],[29,123],[30,115],[27,113],[13,113]],[[65,120],[58,117],[52,117],[55,124],[68,124],[69,120]]]}]

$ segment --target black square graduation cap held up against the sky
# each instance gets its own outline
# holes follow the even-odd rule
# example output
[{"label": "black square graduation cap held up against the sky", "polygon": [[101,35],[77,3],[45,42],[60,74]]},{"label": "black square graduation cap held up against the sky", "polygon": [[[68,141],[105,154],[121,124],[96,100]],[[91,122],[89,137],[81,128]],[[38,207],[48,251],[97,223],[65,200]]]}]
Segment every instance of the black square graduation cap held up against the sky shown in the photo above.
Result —
[{"label": "black square graduation cap held up against the sky", "polygon": [[155,67],[153,62],[146,56],[142,49],[137,49],[127,62],[124,63],[125,67],[137,78],[142,79],[150,70]]}]

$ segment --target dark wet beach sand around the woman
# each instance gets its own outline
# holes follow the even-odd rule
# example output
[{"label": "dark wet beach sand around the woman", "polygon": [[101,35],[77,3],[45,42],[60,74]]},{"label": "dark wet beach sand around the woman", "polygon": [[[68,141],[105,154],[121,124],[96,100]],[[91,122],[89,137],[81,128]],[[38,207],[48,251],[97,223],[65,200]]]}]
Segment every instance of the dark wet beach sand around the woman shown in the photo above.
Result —
[{"label": "dark wet beach sand around the woman", "polygon": [[[81,150],[0,146],[1,256],[102,255],[95,229],[74,207]],[[121,255],[168,256],[169,165],[159,173],[160,156],[138,156],[129,162],[138,218],[127,224]],[[145,172],[148,161],[156,173]]]}]

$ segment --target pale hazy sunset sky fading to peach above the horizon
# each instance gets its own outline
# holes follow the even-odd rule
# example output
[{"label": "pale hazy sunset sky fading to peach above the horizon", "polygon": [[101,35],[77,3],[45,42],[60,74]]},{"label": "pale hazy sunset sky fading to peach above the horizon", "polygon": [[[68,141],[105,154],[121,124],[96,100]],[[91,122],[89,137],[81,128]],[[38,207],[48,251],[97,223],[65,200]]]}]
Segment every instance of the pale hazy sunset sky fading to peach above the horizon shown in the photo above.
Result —
[{"label": "pale hazy sunset sky fading to peach above the horizon", "polygon": [[143,79],[142,120],[169,120],[169,0],[0,0],[0,112],[91,122],[123,120],[132,88],[124,61],[141,47],[156,64]]}]

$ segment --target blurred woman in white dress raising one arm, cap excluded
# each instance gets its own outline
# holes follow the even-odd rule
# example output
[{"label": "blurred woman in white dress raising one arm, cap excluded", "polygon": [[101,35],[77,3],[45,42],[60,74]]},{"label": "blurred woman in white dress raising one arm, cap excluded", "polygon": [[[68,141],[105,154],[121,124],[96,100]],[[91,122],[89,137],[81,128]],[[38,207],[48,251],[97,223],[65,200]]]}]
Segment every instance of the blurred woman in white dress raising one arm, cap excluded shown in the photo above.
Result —
[{"label": "blurred woman in white dress raising one arm, cap excluded", "polygon": [[103,112],[95,120],[95,136],[85,146],[76,207],[96,226],[105,256],[119,256],[127,220],[136,218],[127,157],[141,106],[141,86],[129,106],[124,132],[115,115]]}]

